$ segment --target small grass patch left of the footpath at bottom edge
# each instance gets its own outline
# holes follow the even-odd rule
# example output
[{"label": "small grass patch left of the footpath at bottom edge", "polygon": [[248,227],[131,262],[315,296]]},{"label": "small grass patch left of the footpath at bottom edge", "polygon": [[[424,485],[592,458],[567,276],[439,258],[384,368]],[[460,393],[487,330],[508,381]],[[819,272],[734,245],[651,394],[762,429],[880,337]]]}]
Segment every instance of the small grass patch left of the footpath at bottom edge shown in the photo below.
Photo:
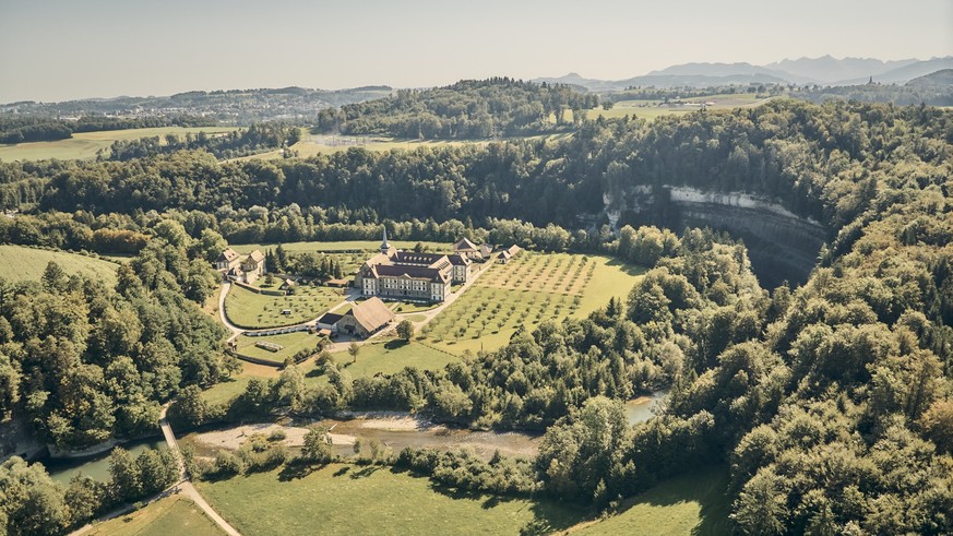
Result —
[{"label": "small grass patch left of the footpath at bottom edge", "polygon": [[170,496],[135,512],[100,523],[88,533],[95,536],[221,536],[225,534],[194,502]]}]

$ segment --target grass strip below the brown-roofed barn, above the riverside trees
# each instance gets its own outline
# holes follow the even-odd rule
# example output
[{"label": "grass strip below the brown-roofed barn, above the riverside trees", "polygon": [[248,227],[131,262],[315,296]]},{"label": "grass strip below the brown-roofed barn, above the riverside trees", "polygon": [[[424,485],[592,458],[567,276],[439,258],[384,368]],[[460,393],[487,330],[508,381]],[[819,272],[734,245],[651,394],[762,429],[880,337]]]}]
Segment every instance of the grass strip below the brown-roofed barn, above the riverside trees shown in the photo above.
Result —
[{"label": "grass strip below the brown-roofed barn, above the riverside trees", "polygon": [[[332,356],[335,361],[344,364],[345,369],[354,378],[371,377],[378,372],[393,374],[404,367],[437,370],[458,359],[417,341],[405,343],[396,338],[362,345],[355,362],[352,362],[350,354],[347,352],[337,352]],[[323,381],[323,378],[321,380]]]}]

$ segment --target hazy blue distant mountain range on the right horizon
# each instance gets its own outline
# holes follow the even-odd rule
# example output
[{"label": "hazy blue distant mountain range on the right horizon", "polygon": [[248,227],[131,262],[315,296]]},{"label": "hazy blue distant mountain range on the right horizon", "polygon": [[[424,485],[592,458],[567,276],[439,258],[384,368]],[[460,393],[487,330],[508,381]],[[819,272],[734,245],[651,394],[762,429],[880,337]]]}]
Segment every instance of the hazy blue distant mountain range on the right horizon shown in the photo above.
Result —
[{"label": "hazy blue distant mountain range on the right horizon", "polygon": [[589,91],[631,86],[705,87],[731,84],[857,85],[872,76],[883,84],[904,84],[942,69],[953,69],[953,56],[929,60],[882,61],[871,58],[836,59],[831,56],[782,60],[766,65],[751,63],[683,63],[626,80],[584,79],[577,73],[534,82],[571,84]]}]

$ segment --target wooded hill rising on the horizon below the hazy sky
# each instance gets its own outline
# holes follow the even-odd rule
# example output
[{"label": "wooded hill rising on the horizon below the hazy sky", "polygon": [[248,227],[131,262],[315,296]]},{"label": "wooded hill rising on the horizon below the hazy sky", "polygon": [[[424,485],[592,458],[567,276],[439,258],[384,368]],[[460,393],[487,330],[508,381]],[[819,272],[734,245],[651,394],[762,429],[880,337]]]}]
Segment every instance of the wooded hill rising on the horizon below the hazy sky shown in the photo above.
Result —
[{"label": "wooded hill rising on the horizon below the hazy sky", "polygon": [[[315,130],[414,140],[532,135],[565,130],[565,110],[587,110],[598,103],[597,95],[565,85],[507,78],[462,81],[322,110]],[[579,122],[581,114],[574,117]]]}]

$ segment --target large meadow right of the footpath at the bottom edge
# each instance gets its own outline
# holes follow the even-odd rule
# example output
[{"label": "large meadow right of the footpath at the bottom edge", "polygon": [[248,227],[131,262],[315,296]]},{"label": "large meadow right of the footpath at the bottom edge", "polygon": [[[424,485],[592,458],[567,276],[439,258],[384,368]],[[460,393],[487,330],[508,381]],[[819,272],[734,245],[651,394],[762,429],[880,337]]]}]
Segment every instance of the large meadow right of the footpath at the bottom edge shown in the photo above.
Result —
[{"label": "large meadow right of the footpath at the bottom edge", "polygon": [[196,486],[245,536],[546,534],[582,517],[545,500],[452,493],[389,467],[330,464],[298,476],[276,471]]}]

